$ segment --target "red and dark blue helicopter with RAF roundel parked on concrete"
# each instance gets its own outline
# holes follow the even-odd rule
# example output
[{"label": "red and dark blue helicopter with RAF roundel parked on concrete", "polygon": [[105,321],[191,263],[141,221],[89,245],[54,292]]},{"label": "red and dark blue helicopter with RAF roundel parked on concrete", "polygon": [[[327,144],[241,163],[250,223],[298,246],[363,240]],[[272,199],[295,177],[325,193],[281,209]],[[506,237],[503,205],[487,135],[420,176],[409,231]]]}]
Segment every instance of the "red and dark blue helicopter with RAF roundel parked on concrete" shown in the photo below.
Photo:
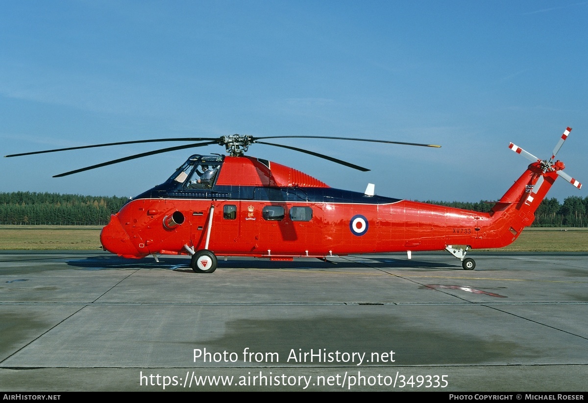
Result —
[{"label": "red and dark blue helicopter with RAF roundel parked on concrete", "polygon": [[534,211],[557,176],[576,186],[576,179],[554,161],[570,133],[564,131],[549,160],[540,160],[510,143],[509,148],[532,163],[489,213],[455,209],[377,196],[373,184],[365,193],[333,189],[296,169],[245,156],[254,143],[283,147],[321,157],[353,169],[364,167],[297,147],[260,139],[322,138],[412,146],[440,147],[385,140],[319,136],[222,136],[154,139],[9,155],[22,156],[132,143],[195,141],[141,153],[55,175],[66,176],[101,166],[173,150],[213,144],[228,156],[192,155],[164,183],[129,200],[101,232],[105,250],[126,258],[161,254],[191,256],[196,273],[212,273],[217,256],[253,256],[270,260],[347,254],[446,250],[465,270],[475,248],[500,248],[517,239],[534,220]]}]

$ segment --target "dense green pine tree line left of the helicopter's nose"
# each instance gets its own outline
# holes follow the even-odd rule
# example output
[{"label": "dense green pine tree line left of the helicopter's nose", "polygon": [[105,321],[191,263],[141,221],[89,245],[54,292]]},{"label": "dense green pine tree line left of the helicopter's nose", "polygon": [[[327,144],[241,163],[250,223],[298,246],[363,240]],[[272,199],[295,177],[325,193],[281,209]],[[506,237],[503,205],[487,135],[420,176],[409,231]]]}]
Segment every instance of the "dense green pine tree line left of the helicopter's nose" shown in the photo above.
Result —
[{"label": "dense green pine tree line left of the helicopter's nose", "polygon": [[0,224],[106,225],[127,197],[79,194],[0,193]]}]

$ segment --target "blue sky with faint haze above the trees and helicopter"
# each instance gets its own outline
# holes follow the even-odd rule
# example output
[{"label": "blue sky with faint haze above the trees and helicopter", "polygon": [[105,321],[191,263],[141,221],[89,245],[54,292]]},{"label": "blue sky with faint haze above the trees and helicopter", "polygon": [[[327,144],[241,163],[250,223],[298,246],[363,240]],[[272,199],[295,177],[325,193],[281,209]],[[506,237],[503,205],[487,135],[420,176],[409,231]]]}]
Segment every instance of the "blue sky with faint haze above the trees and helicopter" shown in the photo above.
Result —
[{"label": "blue sky with faint haze above the trees and helicopter", "polygon": [[[527,160],[558,157],[588,194],[588,2],[3,1],[2,155],[158,137],[318,135],[441,149],[284,140],[372,169],[253,145],[333,187],[496,200]],[[178,143],[164,143],[174,146]],[[0,159],[0,192],[135,196],[190,150],[74,176],[158,146]],[[208,146],[194,153],[222,153]]]}]

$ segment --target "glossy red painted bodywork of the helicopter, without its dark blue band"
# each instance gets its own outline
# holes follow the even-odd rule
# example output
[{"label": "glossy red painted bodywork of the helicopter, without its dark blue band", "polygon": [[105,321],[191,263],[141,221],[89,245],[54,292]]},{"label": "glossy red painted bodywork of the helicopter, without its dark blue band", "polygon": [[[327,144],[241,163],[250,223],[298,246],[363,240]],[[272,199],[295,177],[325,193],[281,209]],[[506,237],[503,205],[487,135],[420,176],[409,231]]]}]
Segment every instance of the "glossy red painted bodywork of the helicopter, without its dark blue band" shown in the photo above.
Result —
[{"label": "glossy red painted bodywork of the helicopter, without its dark blue band", "polygon": [[[529,189],[543,177],[540,188]],[[490,213],[402,200],[387,204],[267,202],[255,200],[140,199],[126,204],[102,231],[103,246],[125,257],[187,253],[184,246],[205,245],[211,204],[215,206],[209,249],[220,256],[329,256],[350,253],[443,250],[447,245],[496,248],[510,244],[533,222],[534,211],[557,178],[533,163]],[[226,157],[222,184],[326,187],[310,176],[249,157]],[[240,182],[238,182],[238,180]],[[234,181],[234,182],[232,182]],[[316,181],[316,182],[313,182]],[[223,206],[236,206],[236,219]],[[264,206],[282,206],[282,220],[265,220]],[[292,221],[292,206],[312,208],[310,221]],[[172,229],[165,217],[179,211],[185,220]]]}]

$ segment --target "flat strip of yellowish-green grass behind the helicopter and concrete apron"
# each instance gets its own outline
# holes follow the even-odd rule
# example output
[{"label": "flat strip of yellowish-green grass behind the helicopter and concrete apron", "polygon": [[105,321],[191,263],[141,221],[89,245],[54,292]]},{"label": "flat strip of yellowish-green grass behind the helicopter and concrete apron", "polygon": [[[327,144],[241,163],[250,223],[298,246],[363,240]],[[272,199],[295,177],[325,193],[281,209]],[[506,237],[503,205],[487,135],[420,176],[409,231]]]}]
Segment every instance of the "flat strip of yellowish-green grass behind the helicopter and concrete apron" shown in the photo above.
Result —
[{"label": "flat strip of yellowish-green grass behind the helicopter and concrete apron", "polygon": [[[0,249],[101,249],[98,226],[0,226]],[[527,228],[502,250],[588,252],[588,228]]]}]

